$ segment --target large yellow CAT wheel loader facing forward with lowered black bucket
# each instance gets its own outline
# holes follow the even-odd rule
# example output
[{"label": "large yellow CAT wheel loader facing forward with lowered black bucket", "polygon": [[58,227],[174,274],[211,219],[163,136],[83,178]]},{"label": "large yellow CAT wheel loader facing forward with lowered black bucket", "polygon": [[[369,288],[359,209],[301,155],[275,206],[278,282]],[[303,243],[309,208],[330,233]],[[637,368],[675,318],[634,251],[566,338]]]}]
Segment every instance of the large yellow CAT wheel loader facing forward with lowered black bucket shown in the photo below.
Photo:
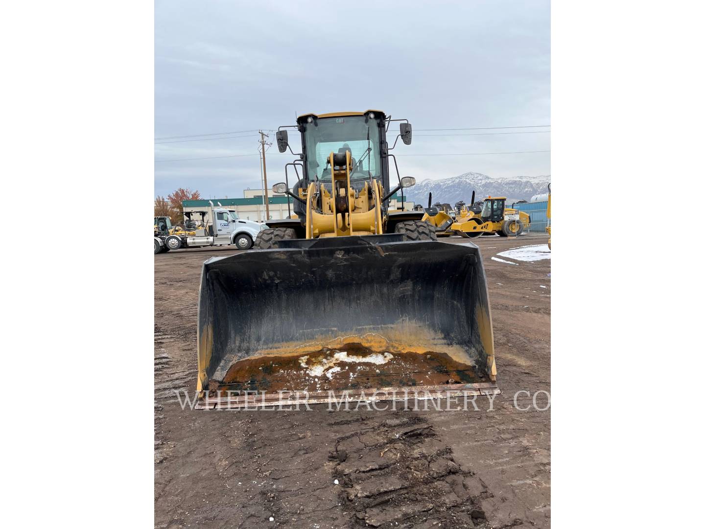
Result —
[{"label": "large yellow CAT wheel loader facing forward with lowered black bucket", "polygon": [[[392,121],[402,123],[390,147]],[[378,110],[279,128],[279,151],[296,159],[273,189],[296,218],[268,221],[248,252],[204,262],[197,408],[499,391],[477,246],[440,243],[424,212],[388,206],[415,183],[398,171],[391,183],[389,171],[397,140],[411,137],[407,120]]]}]

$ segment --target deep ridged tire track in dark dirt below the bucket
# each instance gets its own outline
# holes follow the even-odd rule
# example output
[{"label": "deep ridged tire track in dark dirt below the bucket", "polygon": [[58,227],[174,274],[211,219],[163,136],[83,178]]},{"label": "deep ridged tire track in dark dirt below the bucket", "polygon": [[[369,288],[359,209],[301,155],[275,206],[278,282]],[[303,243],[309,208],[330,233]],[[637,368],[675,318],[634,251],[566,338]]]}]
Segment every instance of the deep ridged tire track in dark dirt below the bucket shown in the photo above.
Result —
[{"label": "deep ridged tire track in dark dirt below the bucket", "polygon": [[365,426],[339,437],[331,453],[345,511],[358,526],[486,527],[484,483],[455,462],[427,420],[393,412]]}]

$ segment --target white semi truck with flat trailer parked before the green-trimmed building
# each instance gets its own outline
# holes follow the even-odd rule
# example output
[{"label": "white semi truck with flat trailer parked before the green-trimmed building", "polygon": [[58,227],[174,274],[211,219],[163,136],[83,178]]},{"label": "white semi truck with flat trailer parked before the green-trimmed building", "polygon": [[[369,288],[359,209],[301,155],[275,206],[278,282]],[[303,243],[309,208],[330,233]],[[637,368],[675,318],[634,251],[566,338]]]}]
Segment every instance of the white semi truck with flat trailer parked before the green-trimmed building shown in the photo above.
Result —
[{"label": "white semi truck with flat trailer parked before the green-trimmed building", "polygon": [[[221,245],[235,245],[238,250],[249,250],[257,238],[257,233],[267,227],[266,224],[240,219],[233,209],[213,207],[212,202],[207,211],[195,213],[200,214],[203,221],[203,227],[195,229],[195,235],[155,235],[154,253]],[[210,214],[208,221],[205,220],[207,213]]]}]

